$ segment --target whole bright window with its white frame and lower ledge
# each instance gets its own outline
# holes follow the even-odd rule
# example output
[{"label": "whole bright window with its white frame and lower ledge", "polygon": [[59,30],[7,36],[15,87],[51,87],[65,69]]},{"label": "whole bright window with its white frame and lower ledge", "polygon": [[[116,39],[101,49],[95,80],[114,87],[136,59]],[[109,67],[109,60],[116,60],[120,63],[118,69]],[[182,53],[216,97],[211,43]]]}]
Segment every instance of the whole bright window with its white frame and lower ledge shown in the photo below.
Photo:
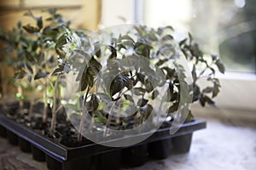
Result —
[{"label": "whole bright window with its white frame and lower ledge", "polygon": [[102,25],[123,24],[122,16],[151,27],[171,25],[180,40],[190,31],[205,52],[220,55],[226,65],[218,76],[218,107],[255,112],[255,8],[255,0],[102,0]]}]

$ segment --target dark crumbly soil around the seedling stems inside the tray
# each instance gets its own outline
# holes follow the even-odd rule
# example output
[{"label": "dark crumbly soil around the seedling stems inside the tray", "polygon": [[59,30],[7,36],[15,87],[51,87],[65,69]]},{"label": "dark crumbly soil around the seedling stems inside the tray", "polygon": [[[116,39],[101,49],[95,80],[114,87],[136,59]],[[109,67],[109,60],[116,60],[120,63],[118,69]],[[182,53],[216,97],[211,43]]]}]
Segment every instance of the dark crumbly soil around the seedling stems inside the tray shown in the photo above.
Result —
[{"label": "dark crumbly soil around the seedling stems inside the tray", "polygon": [[[56,143],[63,144],[67,147],[77,147],[86,144],[92,144],[93,142],[89,139],[82,138],[82,141],[78,141],[78,130],[73,127],[73,124],[67,121],[67,115],[65,110],[59,111],[56,113],[56,123],[55,123],[55,133],[51,134],[49,132],[50,127],[50,119],[51,119],[51,111],[48,108],[48,120],[47,123],[42,123],[42,115],[44,110],[44,104],[38,103],[33,107],[33,116],[32,120],[28,120],[28,110],[29,103],[25,102],[22,110],[19,108],[18,102],[9,103],[7,107],[5,107],[3,111],[0,113],[5,113],[10,119],[15,122],[19,122],[24,126],[31,128],[34,132],[47,136],[49,139],[54,140]],[[79,123],[80,116],[73,114],[73,120],[77,120]],[[123,120],[124,121],[124,120]],[[125,128],[133,127],[133,119],[130,118],[125,120],[126,126]],[[164,122],[162,127],[170,127],[172,122]],[[111,123],[111,127],[114,129],[123,129],[123,125],[117,125],[114,121]]]}]

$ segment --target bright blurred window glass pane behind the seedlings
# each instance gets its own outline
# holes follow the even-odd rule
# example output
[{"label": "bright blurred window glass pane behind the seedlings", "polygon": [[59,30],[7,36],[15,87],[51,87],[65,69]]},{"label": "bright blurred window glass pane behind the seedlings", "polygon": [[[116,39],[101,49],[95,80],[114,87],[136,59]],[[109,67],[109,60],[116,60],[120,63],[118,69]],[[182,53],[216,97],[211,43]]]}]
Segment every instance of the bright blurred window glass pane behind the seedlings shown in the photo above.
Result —
[{"label": "bright blurred window glass pane behind the seedlings", "polygon": [[148,26],[191,31],[205,51],[219,54],[228,71],[256,73],[255,0],[147,0]]}]

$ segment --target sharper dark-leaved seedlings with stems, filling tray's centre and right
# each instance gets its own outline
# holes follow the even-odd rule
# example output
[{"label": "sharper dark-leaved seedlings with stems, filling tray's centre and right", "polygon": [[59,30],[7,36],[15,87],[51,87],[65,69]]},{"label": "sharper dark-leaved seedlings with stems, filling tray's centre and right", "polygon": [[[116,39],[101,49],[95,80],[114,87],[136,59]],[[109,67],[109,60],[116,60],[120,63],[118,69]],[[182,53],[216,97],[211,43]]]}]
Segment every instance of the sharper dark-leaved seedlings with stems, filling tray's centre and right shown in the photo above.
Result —
[{"label": "sharper dark-leaved seedlings with stems, filling tray's centre and right", "polygon": [[[194,93],[191,102],[200,100],[202,106],[206,103],[214,105],[211,98],[217,96],[220,88],[215,70],[218,68],[224,73],[224,65],[217,56],[212,55],[209,59],[203,54],[191,34],[177,44],[172,37],[172,31],[171,26],[158,29],[132,26],[124,34],[114,35],[113,32],[108,32],[108,41],[67,32],[56,42],[61,58],[61,67],[57,70],[63,74],[73,71],[73,74],[77,75],[79,91],[82,92],[80,100],[77,99],[73,105],[66,105],[67,108],[75,108],[79,103],[79,109],[74,111],[82,113],[79,133],[83,131],[83,117],[87,114],[92,117],[91,122],[105,124],[105,135],[111,123],[124,128],[131,122],[133,126],[139,125],[148,119],[150,114],[157,112],[153,106],[157,101],[161,101],[158,106],[163,103],[168,105],[166,111],[158,111],[172,115],[178,110],[181,100],[189,99],[192,91]],[[76,36],[73,36],[74,34]],[[106,32],[102,31],[99,37],[106,37],[105,34]],[[80,38],[81,35],[83,38]],[[83,45],[78,45],[71,51],[64,47],[68,43],[73,44],[74,40],[79,40],[75,42]],[[176,62],[182,55],[179,49],[192,65],[191,84],[185,81],[183,65]],[[79,64],[75,61],[78,58],[81,59]],[[201,89],[197,84],[201,77],[207,77],[207,81],[212,82],[212,87]],[[97,83],[101,84],[100,87]],[[102,89],[94,92],[94,88]],[[160,96],[160,88],[167,89],[166,95]],[[187,91],[185,96],[181,96],[182,90]],[[189,109],[189,101],[183,101],[183,111],[184,108]],[[132,116],[119,118],[122,111],[134,112]],[[189,111],[186,117],[188,122],[191,117]]]}]

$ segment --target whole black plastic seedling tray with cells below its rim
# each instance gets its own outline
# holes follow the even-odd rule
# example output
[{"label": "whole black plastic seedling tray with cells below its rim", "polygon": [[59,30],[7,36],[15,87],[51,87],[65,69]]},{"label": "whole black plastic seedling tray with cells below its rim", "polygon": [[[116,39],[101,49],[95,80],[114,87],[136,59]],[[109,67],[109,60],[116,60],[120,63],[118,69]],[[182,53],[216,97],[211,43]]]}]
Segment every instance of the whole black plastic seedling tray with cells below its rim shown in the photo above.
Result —
[{"label": "whole black plastic seedling tray with cells below its rim", "polygon": [[[189,151],[189,146],[191,143],[192,133],[196,130],[200,130],[206,127],[206,122],[201,120],[195,120],[193,122],[184,123],[183,126],[177,131],[177,133],[170,135],[169,127],[160,128],[154,134],[152,134],[148,139],[143,142],[129,146],[128,148],[115,148],[108,147],[102,144],[86,144],[79,147],[67,147],[63,144],[57,144],[53,139],[49,139],[39,133],[35,133],[32,129],[23,126],[22,124],[15,122],[8,117],[0,114],[0,126],[2,127],[1,132],[5,134],[5,130],[8,132],[8,137],[11,138],[17,137],[17,141],[22,141],[24,143],[32,145],[32,154],[33,157],[38,161],[44,161],[46,158],[49,169],[73,169],[73,165],[78,166],[79,163],[83,163],[83,167],[87,166],[84,169],[108,169],[108,162],[113,157],[115,163],[118,163],[120,157],[125,157],[123,153],[129,153],[127,150],[134,149],[136,147],[147,145],[146,148],[154,148],[154,146],[148,147],[148,145],[156,145],[160,141],[168,141],[172,139],[172,148],[180,152]],[[148,133],[141,133],[139,135],[148,135]],[[3,135],[4,136],[4,135]],[[134,136],[125,136],[121,139],[114,139],[108,142],[129,142],[129,140],[136,139],[137,135]],[[185,141],[177,141],[178,139],[185,139]],[[15,139],[9,139],[15,141]],[[25,142],[24,142],[25,140]],[[188,142],[189,141],[189,142]],[[188,143],[188,144],[187,144]],[[181,149],[178,149],[178,145],[181,145]],[[186,144],[186,146],[184,146]],[[27,149],[26,150],[29,151]],[[22,149],[21,149],[22,150]],[[126,150],[126,151],[123,151]],[[146,150],[147,151],[147,150]],[[148,151],[150,153],[152,151]],[[120,154],[123,154],[120,156]],[[158,153],[159,154],[159,153]],[[145,155],[147,156],[147,154]],[[104,158],[105,157],[105,158]],[[104,166],[102,165],[104,160],[108,157],[108,162],[105,162]],[[154,156],[153,156],[154,157]],[[156,156],[157,157],[157,156]],[[161,156],[160,156],[161,157]],[[164,156],[166,157],[166,156]],[[101,162],[96,162],[101,161]],[[87,163],[87,165],[86,165]],[[93,165],[92,165],[93,164]],[[121,162],[119,162],[121,164]],[[142,164],[142,163],[141,163]],[[110,165],[111,167],[111,165]],[[110,168],[109,167],[109,168]],[[113,166],[113,169],[118,169],[119,166]]]}]

